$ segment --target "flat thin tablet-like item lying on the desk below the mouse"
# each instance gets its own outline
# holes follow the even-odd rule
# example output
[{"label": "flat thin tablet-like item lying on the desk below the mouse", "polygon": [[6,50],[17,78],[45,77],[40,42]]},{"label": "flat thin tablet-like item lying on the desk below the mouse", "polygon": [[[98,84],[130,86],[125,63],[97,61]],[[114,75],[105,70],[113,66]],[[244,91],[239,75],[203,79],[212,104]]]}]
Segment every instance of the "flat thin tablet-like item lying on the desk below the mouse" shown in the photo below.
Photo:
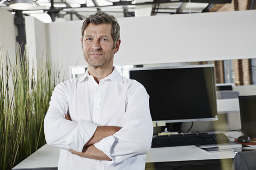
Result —
[{"label": "flat thin tablet-like item lying on the desk below the mouse", "polygon": [[212,145],[195,145],[195,146],[206,152],[217,152],[217,151],[225,151],[225,150],[234,150],[239,148],[250,148],[249,146],[243,145],[241,143],[236,143],[236,142],[218,143],[218,144],[212,144]]}]

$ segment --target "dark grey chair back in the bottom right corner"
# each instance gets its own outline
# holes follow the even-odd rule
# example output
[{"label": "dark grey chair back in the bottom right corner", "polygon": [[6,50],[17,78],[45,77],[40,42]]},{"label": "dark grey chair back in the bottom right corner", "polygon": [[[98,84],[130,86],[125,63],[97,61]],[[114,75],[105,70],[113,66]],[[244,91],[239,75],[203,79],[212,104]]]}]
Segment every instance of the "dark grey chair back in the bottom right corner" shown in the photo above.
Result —
[{"label": "dark grey chair back in the bottom right corner", "polygon": [[238,152],[233,160],[233,170],[256,169],[256,150]]}]

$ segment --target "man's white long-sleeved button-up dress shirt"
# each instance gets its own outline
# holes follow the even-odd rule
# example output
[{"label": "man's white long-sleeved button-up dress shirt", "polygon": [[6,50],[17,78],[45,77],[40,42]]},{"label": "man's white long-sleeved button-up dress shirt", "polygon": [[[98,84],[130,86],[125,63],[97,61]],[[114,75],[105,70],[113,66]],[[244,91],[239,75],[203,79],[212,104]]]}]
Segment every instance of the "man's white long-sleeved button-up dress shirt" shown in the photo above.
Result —
[{"label": "man's white long-sleeved button-up dress shirt", "polygon": [[[65,119],[69,113],[71,120]],[[79,157],[97,126],[122,127],[94,146],[111,161]],[[145,169],[153,123],[149,96],[137,81],[121,76],[116,68],[99,84],[86,73],[55,87],[44,120],[46,142],[60,148],[58,169]]]}]

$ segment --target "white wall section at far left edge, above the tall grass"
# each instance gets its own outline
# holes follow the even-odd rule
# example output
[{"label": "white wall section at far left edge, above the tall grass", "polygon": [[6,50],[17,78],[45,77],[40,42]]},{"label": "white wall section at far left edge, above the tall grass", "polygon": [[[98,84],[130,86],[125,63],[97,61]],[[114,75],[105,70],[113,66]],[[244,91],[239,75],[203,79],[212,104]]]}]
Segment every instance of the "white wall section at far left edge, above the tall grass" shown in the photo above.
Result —
[{"label": "white wall section at far left edge, above the tall grass", "polygon": [[[14,15],[0,8],[0,46],[2,46],[3,54],[6,51],[11,60],[15,57],[16,30],[14,25]],[[1,55],[1,54],[0,54]]]}]

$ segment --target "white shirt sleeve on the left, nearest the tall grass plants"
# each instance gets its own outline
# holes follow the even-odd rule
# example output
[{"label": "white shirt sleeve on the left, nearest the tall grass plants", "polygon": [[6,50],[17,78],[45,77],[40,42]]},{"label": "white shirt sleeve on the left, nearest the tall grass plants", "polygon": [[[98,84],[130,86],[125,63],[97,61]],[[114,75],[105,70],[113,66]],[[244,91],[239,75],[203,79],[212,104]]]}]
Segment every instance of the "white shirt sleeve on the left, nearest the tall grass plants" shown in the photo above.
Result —
[{"label": "white shirt sleeve on the left, nearest the tall grass plants", "polygon": [[89,141],[97,129],[97,125],[81,120],[68,121],[68,99],[65,84],[54,88],[50,106],[44,118],[44,133],[47,144],[66,150],[81,152],[85,143]]}]

